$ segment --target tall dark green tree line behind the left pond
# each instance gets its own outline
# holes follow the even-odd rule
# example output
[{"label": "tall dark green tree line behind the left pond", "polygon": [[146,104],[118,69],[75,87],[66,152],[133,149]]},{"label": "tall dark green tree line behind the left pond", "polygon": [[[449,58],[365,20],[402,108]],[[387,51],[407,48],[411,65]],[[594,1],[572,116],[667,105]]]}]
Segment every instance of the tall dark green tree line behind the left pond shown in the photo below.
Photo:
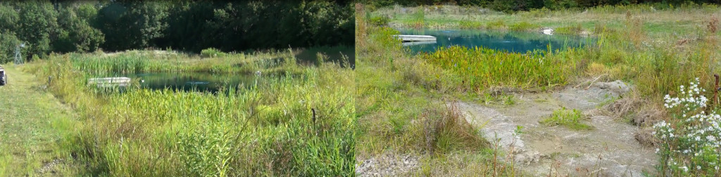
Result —
[{"label": "tall dark green tree line behind the left pond", "polygon": [[0,63],[23,55],[353,45],[353,4],[317,1],[0,1]]}]

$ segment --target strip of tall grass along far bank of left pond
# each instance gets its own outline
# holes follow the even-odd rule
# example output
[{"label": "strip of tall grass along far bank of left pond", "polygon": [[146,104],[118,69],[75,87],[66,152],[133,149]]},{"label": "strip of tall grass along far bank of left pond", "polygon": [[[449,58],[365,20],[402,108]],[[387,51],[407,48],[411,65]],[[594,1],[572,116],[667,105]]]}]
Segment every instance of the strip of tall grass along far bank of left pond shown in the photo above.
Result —
[{"label": "strip of tall grass along far bank of left pond", "polygon": [[[324,49],[321,47],[319,50]],[[314,49],[311,49],[314,50]],[[208,54],[212,53],[212,54]],[[292,50],[255,53],[220,53],[209,49],[201,56],[156,55],[143,51],[88,55],[71,53],[72,66],[94,76],[148,72],[209,72],[209,73],[300,73]],[[281,67],[283,66],[283,67]]]}]

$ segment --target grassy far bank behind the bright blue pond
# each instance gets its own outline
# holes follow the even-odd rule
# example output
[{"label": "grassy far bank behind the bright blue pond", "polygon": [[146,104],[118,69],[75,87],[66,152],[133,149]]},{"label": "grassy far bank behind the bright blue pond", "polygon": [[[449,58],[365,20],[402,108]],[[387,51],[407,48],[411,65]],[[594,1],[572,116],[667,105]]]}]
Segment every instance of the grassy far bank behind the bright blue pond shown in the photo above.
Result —
[{"label": "grassy far bank behind the bright blue pond", "polygon": [[[694,34],[699,25],[720,14],[714,4],[675,6],[663,8],[654,4],[629,6],[596,6],[588,9],[548,10],[533,9],[507,14],[477,6],[390,6],[370,7],[371,18],[386,17],[394,27],[429,27],[461,29],[516,29],[535,30],[540,27],[594,29],[606,26],[612,29],[626,25],[631,16],[640,19],[644,32],[652,37],[663,33]],[[593,32],[592,30],[588,30]]]}]

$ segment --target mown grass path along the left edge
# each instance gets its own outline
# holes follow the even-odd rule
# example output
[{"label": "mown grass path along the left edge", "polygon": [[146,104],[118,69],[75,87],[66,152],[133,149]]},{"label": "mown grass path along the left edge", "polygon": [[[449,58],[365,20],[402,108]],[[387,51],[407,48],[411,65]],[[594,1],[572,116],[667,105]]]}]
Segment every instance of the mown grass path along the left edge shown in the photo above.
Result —
[{"label": "mown grass path along the left edge", "polygon": [[[25,67],[25,66],[23,66]],[[68,176],[58,142],[74,132],[72,109],[41,89],[22,68],[4,65],[8,84],[0,86],[0,176]]]}]

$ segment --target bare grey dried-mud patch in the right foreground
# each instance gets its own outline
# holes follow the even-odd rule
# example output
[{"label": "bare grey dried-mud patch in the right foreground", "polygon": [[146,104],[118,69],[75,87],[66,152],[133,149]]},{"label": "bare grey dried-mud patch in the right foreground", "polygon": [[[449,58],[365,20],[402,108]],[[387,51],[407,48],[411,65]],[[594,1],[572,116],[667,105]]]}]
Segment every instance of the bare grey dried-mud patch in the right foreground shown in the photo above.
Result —
[{"label": "bare grey dried-mud patch in the right foreground", "polygon": [[[622,84],[619,86],[618,84]],[[512,106],[458,102],[472,124],[488,122],[482,131],[495,135],[505,149],[513,147],[516,168],[536,176],[642,176],[658,161],[652,148],[637,142],[638,127],[601,114],[598,106],[628,91],[624,83],[596,83],[589,89],[567,87],[552,94],[517,94]],[[539,120],[566,107],[579,109],[593,130],[549,127]],[[523,126],[521,136],[513,134]]]}]

